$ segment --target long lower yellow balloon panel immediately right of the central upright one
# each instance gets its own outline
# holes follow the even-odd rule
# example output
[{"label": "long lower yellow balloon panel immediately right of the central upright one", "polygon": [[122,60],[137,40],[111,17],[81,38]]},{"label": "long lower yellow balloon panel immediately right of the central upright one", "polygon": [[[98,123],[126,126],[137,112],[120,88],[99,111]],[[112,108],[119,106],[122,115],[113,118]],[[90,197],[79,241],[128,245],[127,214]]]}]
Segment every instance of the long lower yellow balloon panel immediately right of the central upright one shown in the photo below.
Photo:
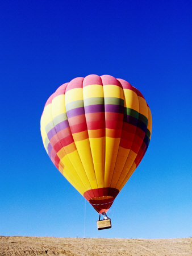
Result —
[{"label": "long lower yellow balloon panel immediately right of the central upright one", "polygon": [[112,174],[115,168],[116,157],[119,150],[120,138],[106,137],[105,150],[105,187],[110,187]]}]

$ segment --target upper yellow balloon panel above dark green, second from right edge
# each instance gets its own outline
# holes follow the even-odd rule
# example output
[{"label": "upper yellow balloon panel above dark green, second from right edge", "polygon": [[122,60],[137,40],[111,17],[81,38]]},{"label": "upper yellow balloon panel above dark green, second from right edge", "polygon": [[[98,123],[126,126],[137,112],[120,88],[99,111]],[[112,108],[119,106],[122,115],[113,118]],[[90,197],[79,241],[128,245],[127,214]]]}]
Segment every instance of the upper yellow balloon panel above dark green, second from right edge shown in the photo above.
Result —
[{"label": "upper yellow balloon panel above dark green, second from right edge", "polygon": [[139,100],[137,94],[130,89],[123,89],[124,91],[124,102],[126,108],[134,109],[139,112]]}]

